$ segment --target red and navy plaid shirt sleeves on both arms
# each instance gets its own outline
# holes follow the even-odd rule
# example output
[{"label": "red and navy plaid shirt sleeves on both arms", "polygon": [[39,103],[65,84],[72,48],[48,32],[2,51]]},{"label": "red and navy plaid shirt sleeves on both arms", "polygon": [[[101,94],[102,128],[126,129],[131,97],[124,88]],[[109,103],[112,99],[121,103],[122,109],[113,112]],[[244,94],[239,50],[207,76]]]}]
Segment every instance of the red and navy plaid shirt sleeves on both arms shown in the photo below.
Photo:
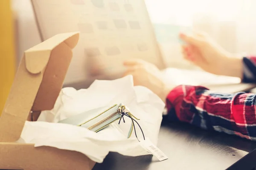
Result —
[{"label": "red and navy plaid shirt sleeves on both arms", "polygon": [[[244,57],[243,82],[256,82],[256,57]],[[166,99],[168,119],[256,141],[256,94],[214,93],[202,86],[180,85]]]}]

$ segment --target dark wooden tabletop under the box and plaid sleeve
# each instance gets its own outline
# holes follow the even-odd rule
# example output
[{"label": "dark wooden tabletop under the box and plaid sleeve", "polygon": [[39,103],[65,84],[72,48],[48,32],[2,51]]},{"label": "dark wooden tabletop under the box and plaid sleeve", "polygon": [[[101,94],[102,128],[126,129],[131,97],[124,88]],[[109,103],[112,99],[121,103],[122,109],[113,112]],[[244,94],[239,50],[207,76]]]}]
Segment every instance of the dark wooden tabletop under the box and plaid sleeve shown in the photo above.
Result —
[{"label": "dark wooden tabletop under the box and plaid sleeve", "polygon": [[163,121],[157,145],[169,159],[110,153],[93,170],[253,170],[256,142]]}]

